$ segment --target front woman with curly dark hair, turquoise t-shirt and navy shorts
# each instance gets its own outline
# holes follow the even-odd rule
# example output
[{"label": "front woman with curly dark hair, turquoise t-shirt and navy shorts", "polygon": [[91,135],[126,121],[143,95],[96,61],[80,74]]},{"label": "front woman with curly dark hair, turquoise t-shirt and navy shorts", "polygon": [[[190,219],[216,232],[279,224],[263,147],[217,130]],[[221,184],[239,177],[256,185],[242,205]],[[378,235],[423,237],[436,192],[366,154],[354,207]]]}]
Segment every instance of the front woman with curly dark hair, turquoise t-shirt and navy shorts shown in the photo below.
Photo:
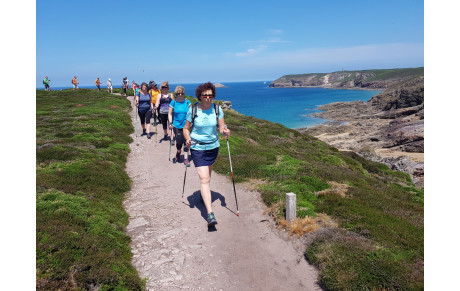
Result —
[{"label": "front woman with curly dark hair, turquoise t-shirt and navy shorts", "polygon": [[209,185],[220,146],[217,125],[220,133],[226,138],[230,136],[230,130],[226,128],[222,108],[216,104],[213,106],[212,103],[216,96],[216,87],[211,82],[201,84],[196,88],[195,95],[200,102],[188,110],[183,131],[186,145],[190,148],[191,160],[200,177],[201,197],[208,213],[208,226],[213,226],[217,221],[212,212]]}]

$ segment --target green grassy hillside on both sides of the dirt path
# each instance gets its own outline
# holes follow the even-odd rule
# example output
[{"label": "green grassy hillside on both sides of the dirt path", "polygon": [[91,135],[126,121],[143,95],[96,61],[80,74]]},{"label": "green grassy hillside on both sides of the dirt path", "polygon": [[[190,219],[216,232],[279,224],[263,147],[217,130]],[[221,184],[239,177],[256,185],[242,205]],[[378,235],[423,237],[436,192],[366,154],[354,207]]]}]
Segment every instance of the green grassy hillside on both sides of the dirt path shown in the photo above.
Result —
[{"label": "green grassy hillside on both sides of the dirt path", "polygon": [[[129,110],[106,92],[37,91],[37,289],[145,288],[123,232]],[[407,174],[233,110],[225,120],[236,181],[258,185],[279,225],[309,237],[323,287],[423,288],[423,190]],[[214,169],[228,174],[221,145]],[[297,225],[283,220],[287,192]]]}]

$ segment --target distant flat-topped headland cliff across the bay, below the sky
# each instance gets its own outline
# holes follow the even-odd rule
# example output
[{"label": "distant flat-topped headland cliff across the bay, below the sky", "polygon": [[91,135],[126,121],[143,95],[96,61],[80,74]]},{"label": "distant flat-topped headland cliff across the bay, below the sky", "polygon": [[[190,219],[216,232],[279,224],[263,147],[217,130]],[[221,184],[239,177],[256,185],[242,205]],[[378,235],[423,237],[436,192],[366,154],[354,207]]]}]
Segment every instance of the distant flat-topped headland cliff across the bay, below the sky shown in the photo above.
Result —
[{"label": "distant flat-topped headland cliff across the bay, below the sky", "polygon": [[424,75],[424,68],[340,71],[285,75],[270,87],[323,87],[332,89],[386,89],[397,83]]}]

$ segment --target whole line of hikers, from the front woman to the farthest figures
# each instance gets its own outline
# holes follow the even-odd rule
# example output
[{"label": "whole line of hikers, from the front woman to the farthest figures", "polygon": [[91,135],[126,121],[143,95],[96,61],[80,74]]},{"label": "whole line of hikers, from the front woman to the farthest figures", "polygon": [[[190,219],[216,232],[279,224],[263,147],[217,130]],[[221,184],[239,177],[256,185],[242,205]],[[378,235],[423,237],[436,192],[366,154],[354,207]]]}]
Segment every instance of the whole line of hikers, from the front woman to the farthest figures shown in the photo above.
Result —
[{"label": "whole line of hikers, from the front woman to the farthest figures", "polygon": [[[43,80],[45,90],[50,90],[49,82],[50,80],[46,76]],[[101,81],[99,77],[97,77],[95,83],[100,91]],[[72,79],[72,85],[74,90],[78,89],[76,76]],[[122,89],[123,95],[126,97],[128,97],[128,88],[129,80],[125,77],[123,78]],[[140,86],[133,81],[131,88],[133,89],[136,113],[139,116],[142,127],[141,136],[151,139],[150,121],[153,118],[155,126],[160,123],[163,127],[163,140],[169,140],[170,147],[172,145],[176,146],[176,163],[180,162],[182,149],[185,153],[188,153],[190,150],[190,155],[188,155],[190,159],[184,156],[184,164],[186,167],[190,167],[190,162],[193,161],[195,165],[200,179],[201,197],[207,210],[208,227],[214,226],[217,224],[217,220],[212,210],[211,172],[219,153],[220,143],[218,134],[220,133],[226,137],[227,141],[230,136],[230,130],[225,124],[222,108],[212,102],[214,97],[216,97],[216,87],[211,82],[199,85],[195,90],[198,102],[194,105],[191,104],[190,100],[185,98],[185,89],[183,86],[178,85],[174,93],[171,93],[168,81],[162,82],[159,89],[154,81],[150,81],[148,84],[142,82]],[[107,81],[107,91],[113,93],[110,78]],[[170,134],[168,134],[168,129]]]}]

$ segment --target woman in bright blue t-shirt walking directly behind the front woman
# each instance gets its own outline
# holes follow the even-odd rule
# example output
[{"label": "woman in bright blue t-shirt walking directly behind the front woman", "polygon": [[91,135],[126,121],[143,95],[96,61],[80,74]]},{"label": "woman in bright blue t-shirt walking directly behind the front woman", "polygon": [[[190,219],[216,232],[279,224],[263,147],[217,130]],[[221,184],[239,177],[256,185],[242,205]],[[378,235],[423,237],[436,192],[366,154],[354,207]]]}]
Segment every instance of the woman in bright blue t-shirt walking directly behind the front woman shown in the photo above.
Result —
[{"label": "woman in bright blue t-shirt walking directly behind the front woman", "polygon": [[[169,126],[174,130],[174,136],[176,139],[176,163],[180,160],[180,153],[182,149],[182,145],[184,145],[184,152],[187,152],[187,147],[185,146],[185,139],[183,128],[185,125],[187,112],[191,106],[190,100],[185,99],[185,89],[182,86],[177,86],[176,90],[174,90],[174,94],[176,95],[176,99],[169,103],[169,113],[168,113],[168,120]],[[172,145],[174,145],[174,140],[172,141]],[[189,162],[187,159],[184,159],[184,164],[189,166]]]}]

